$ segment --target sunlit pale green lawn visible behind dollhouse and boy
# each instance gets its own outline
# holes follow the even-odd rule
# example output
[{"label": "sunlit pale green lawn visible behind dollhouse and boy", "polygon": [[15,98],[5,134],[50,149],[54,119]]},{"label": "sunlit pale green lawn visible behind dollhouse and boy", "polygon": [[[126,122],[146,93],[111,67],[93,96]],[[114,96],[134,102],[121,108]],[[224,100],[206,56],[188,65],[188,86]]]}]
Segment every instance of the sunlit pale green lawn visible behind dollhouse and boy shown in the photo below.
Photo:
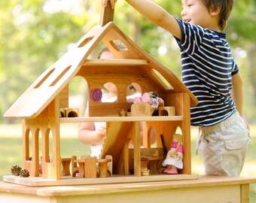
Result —
[{"label": "sunlit pale green lawn visible behind dollhouse and boy", "polygon": [[[61,156],[81,156],[90,154],[90,147],[81,144],[78,141],[78,125],[65,124],[61,126]],[[256,125],[251,126],[251,144],[248,147],[247,158],[242,170],[242,177],[256,177]],[[195,147],[197,140],[197,129],[191,130],[191,153],[192,153],[192,171],[197,174],[203,174],[202,156],[196,156]],[[22,126],[0,125],[0,180],[4,175],[11,174],[13,165],[22,167]],[[251,184],[250,202],[256,203],[256,183]]]}]

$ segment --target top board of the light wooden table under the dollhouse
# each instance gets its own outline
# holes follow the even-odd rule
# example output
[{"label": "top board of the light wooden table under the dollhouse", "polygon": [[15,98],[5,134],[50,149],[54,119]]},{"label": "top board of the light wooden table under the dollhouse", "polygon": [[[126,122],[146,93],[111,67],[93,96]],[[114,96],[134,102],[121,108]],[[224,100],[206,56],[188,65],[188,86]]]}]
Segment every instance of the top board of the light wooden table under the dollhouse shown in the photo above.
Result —
[{"label": "top board of the light wooden table under the dollhouse", "polygon": [[[206,186],[227,186],[256,183],[256,177],[200,176],[198,180],[174,180],[145,183],[111,183],[80,186],[22,186],[0,182],[1,192],[13,192],[40,196],[96,195],[116,192],[138,192],[146,190],[179,189]],[[1,196],[1,195],[0,195]]]}]

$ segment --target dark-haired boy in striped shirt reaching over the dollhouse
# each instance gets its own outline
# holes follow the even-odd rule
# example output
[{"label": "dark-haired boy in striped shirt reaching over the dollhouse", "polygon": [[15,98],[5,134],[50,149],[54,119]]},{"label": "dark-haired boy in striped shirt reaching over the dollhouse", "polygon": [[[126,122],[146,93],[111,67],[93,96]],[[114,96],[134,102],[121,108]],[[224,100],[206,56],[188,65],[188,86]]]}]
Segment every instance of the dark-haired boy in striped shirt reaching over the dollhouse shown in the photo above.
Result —
[{"label": "dark-haired boy in striped shirt reaching over the dollhouse", "polygon": [[[102,0],[102,5],[117,0]],[[126,0],[139,13],[171,33],[181,49],[182,80],[199,104],[190,109],[200,126],[205,173],[239,176],[249,143],[242,119],[242,79],[226,35],[221,31],[233,0],[181,0],[178,20],[149,0]],[[170,1],[170,5],[172,1]]]}]

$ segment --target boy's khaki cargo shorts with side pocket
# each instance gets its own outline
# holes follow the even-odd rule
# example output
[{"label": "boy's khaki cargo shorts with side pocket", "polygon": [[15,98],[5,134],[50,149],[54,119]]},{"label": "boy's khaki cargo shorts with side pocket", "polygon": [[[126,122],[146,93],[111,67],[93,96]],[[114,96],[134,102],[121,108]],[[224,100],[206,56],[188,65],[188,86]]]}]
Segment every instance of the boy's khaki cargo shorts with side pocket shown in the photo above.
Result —
[{"label": "boy's khaki cargo shorts with side pocket", "polygon": [[239,176],[250,142],[245,120],[236,112],[215,126],[200,127],[199,151],[205,174]]}]

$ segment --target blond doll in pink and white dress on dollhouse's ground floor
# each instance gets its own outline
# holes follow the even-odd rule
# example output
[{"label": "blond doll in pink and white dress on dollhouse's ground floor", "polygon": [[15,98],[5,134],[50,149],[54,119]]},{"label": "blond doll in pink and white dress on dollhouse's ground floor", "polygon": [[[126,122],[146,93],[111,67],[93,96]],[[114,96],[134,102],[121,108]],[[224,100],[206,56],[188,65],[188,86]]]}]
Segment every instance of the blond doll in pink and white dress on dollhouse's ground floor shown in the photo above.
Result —
[{"label": "blond doll in pink and white dress on dollhouse's ground floor", "polygon": [[183,168],[183,146],[182,135],[175,134],[172,138],[171,149],[166,154],[166,159],[163,160],[163,166],[166,169],[163,171],[165,174],[178,174],[177,168]]}]

